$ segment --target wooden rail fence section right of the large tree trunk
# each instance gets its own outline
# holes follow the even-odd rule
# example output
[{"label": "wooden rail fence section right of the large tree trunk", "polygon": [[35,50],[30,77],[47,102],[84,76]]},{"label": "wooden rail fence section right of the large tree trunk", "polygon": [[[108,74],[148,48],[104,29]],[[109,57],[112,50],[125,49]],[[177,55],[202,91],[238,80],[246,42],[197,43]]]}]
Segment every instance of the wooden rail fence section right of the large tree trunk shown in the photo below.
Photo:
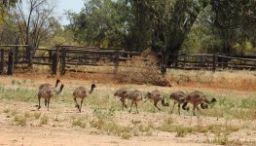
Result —
[{"label": "wooden rail fence section right of the large tree trunk", "polygon": [[186,70],[255,70],[256,55],[170,55],[169,68]]}]

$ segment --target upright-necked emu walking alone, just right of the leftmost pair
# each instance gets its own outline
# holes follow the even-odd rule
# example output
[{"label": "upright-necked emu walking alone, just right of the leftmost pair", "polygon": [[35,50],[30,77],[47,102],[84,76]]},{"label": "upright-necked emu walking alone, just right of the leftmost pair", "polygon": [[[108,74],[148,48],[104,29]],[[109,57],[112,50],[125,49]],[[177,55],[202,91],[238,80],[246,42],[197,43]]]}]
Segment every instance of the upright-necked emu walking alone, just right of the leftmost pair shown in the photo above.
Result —
[{"label": "upright-necked emu walking alone, just right of the leftmost pair", "polygon": [[[88,97],[88,95],[91,94],[91,92],[94,90],[94,88],[96,88],[96,86],[94,84],[91,84],[91,90],[90,91],[87,91],[87,89],[84,88],[84,87],[78,87],[73,92],[74,101],[76,102],[76,107],[78,108],[80,113],[81,113],[84,98]],[[81,98],[80,105],[77,103],[77,98]]]}]

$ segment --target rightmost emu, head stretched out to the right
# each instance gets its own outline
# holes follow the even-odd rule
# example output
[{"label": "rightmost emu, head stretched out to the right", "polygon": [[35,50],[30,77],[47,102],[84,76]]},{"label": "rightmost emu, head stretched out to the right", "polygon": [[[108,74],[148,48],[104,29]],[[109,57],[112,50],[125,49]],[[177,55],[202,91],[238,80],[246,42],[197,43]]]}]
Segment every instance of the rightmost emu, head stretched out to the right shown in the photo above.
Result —
[{"label": "rightmost emu, head stretched out to the right", "polygon": [[[186,109],[188,102],[190,102],[193,105],[193,115],[196,116],[196,114],[195,114],[196,108],[199,112],[201,112],[199,105],[201,105],[202,109],[205,109],[205,108],[207,108],[207,104],[211,104],[216,101],[217,101],[216,98],[212,98],[209,101],[201,91],[192,91],[187,95],[186,100],[184,101],[184,104],[182,105],[182,108]],[[206,105],[204,103],[206,103]]]}]

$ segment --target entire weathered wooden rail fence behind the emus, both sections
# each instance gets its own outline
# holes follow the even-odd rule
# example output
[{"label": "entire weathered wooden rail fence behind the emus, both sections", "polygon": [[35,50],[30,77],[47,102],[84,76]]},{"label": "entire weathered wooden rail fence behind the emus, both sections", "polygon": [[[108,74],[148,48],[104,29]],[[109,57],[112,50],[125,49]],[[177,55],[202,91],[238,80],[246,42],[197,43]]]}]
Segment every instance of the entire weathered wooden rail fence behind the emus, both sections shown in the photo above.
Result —
[{"label": "entire weathered wooden rail fence behind the emus, both sections", "polygon": [[[32,49],[26,45],[0,45],[0,74],[29,71],[34,65],[51,67],[52,74],[64,75],[76,66],[99,66],[108,60],[117,69],[120,62],[130,59],[135,52],[124,49],[56,46],[55,49]],[[160,56],[161,57],[161,56]],[[168,68],[186,70],[256,69],[256,55],[169,55]],[[145,60],[146,61],[146,60]],[[21,68],[21,69],[20,69]],[[77,70],[76,70],[77,71]]]}]

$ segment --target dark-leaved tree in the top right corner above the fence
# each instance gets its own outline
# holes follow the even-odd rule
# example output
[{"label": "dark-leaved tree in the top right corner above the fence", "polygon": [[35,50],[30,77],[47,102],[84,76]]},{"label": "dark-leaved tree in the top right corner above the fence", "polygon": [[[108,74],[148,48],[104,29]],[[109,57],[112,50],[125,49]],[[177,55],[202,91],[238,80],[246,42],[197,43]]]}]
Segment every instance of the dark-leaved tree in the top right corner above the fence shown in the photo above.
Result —
[{"label": "dark-leaved tree in the top right corner above the fence", "polygon": [[[253,0],[211,2],[213,26],[216,35],[222,40],[222,53],[236,54],[236,44],[255,42],[255,7],[256,1]],[[243,54],[243,50],[240,53]]]}]

